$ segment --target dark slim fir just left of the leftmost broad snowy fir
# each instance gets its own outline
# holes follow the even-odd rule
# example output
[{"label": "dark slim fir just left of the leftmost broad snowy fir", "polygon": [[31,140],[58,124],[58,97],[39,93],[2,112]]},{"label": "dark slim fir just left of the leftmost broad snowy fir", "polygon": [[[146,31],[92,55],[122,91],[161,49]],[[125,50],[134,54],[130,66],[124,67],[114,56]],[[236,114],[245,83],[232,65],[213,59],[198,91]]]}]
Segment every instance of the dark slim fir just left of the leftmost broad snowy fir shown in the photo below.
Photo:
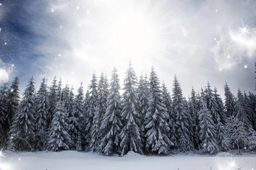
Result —
[{"label": "dark slim fir just left of the leftmost broad snowy fir", "polygon": [[6,137],[9,136],[9,131],[12,126],[12,118],[14,117],[20,102],[19,85],[20,85],[20,82],[18,77],[15,77],[9,90],[7,105],[6,105],[7,111],[6,111],[6,117],[5,117],[4,127],[3,127]]}]

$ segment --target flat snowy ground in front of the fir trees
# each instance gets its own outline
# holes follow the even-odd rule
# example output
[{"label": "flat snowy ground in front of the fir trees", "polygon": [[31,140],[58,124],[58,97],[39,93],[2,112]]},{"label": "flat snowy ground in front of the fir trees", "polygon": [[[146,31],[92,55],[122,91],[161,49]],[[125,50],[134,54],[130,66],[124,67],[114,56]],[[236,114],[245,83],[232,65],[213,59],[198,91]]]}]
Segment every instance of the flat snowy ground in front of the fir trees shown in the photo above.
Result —
[{"label": "flat snowy ground in front of the fir trees", "polygon": [[[0,170],[230,170],[230,164],[241,170],[256,170],[256,155],[234,156],[219,153],[217,156],[200,156],[186,153],[173,156],[102,156],[76,151],[5,153],[0,158]],[[229,156],[228,156],[229,155]],[[227,162],[228,161],[228,162]],[[237,170],[232,167],[231,170]]]}]

